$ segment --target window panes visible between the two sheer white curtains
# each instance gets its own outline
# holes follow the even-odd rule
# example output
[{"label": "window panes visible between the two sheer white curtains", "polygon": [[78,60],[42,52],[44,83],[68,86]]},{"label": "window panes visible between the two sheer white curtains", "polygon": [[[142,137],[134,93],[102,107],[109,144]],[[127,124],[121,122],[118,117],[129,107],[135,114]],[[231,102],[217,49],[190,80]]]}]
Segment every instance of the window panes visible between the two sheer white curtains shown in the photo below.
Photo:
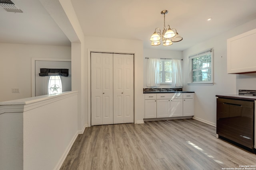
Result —
[{"label": "window panes visible between the two sheer white curtains", "polygon": [[172,83],[172,61],[171,60],[160,60],[159,74],[160,74],[159,75],[160,84]]}]

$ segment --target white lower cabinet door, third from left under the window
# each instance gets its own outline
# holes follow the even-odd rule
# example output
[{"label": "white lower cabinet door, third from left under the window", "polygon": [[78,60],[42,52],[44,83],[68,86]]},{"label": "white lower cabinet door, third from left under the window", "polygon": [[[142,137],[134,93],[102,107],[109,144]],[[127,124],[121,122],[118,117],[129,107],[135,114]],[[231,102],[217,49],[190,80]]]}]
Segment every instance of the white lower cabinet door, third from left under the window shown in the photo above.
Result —
[{"label": "white lower cabinet door, third from left under the window", "polygon": [[183,101],[182,99],[172,99],[170,101],[170,117],[183,116]]}]

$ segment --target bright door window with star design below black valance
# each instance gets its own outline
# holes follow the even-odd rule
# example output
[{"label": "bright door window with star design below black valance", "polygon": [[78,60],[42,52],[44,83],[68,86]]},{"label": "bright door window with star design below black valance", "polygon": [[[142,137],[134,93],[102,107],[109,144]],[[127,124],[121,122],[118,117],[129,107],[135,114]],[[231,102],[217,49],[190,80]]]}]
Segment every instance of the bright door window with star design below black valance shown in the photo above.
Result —
[{"label": "bright door window with star design below black valance", "polygon": [[62,92],[62,83],[60,76],[49,76],[48,94],[56,94]]}]

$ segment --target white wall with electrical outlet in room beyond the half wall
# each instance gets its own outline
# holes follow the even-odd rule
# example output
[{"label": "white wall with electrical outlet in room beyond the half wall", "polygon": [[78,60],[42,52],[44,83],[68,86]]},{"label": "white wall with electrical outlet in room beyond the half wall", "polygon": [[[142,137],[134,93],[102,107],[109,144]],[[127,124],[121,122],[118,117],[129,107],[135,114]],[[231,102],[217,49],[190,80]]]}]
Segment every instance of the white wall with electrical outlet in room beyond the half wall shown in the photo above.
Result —
[{"label": "white wall with electrical outlet in room beyond the half wall", "polygon": [[0,102],[31,97],[31,58],[71,59],[65,46],[0,43],[0,51]]}]

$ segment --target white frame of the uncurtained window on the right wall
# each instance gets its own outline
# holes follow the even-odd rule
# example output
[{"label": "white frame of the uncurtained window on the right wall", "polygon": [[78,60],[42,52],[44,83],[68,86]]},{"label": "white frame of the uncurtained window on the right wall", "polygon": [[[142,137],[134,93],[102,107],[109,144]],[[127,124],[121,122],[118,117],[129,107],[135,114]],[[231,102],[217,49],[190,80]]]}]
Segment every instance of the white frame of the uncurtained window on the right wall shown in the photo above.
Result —
[{"label": "white frame of the uncurtained window on the right wall", "polygon": [[[200,68],[200,69],[194,69],[194,70],[204,70],[204,69],[211,69],[211,81],[200,81],[200,82],[193,82],[193,63],[192,59],[205,56],[207,54],[211,54],[211,66],[206,68]],[[196,53],[194,55],[190,55],[189,57],[189,69],[190,69],[190,82],[188,82],[188,85],[213,85],[214,84],[214,56],[213,56],[213,49],[207,49],[205,51],[201,51],[199,53]]]}]

